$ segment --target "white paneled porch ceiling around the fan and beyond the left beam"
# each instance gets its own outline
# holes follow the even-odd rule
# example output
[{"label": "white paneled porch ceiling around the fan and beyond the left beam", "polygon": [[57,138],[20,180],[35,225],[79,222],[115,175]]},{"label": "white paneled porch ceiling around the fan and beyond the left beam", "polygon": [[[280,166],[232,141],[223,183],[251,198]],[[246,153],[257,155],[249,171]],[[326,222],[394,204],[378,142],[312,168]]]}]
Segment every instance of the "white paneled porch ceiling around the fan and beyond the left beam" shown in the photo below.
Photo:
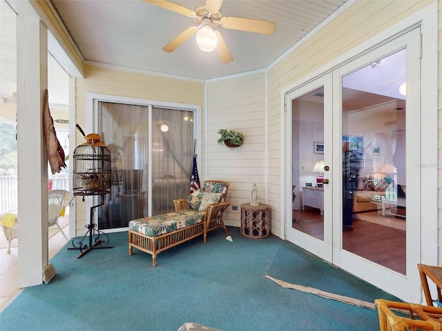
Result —
[{"label": "white paneled porch ceiling around the fan and beyond the left beam", "polygon": [[[13,98],[16,90],[15,17],[0,0],[1,58],[0,96]],[[223,64],[216,52],[202,52],[195,38],[174,52],[162,47],[189,26],[193,19],[141,0],[51,0],[85,63],[137,72],[156,72],[191,79],[213,79],[267,68],[307,33],[314,30],[346,0],[224,0],[222,15],[276,22],[272,35],[228,30],[218,26],[233,61]],[[187,8],[204,5],[204,0],[174,0]],[[49,69],[50,98],[63,74],[55,61]],[[49,77],[49,80],[51,77]],[[52,86],[51,86],[52,85]],[[66,90],[67,92],[67,90]],[[64,98],[64,97],[63,97]],[[52,99],[51,103],[63,103]]]}]

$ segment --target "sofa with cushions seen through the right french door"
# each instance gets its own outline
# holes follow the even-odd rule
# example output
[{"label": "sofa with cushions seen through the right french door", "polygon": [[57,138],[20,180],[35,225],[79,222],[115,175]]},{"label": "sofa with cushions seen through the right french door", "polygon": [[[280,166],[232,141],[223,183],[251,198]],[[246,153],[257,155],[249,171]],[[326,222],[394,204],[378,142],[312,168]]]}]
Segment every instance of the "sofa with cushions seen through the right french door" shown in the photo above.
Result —
[{"label": "sofa with cushions seen through the right french door", "polygon": [[358,177],[358,190],[353,199],[353,212],[370,212],[380,206],[373,202],[373,196],[385,195],[388,184],[384,179],[374,183],[372,177]]}]

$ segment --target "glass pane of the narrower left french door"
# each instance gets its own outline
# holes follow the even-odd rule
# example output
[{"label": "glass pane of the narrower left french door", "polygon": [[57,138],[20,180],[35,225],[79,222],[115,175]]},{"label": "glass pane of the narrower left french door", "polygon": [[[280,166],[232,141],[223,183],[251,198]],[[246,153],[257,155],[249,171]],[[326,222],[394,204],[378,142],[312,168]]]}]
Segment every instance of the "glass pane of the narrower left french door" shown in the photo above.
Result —
[{"label": "glass pane of the narrower left french door", "polygon": [[292,100],[292,228],[324,240],[324,88]]}]

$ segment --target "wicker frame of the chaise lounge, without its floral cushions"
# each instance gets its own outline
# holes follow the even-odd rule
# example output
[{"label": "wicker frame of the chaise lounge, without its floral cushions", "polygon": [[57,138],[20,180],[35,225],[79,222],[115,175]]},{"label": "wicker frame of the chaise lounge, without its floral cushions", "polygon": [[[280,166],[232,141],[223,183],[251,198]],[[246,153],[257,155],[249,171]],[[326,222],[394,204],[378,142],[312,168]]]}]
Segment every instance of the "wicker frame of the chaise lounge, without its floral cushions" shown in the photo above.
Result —
[{"label": "wicker frame of the chaise lounge, without its floral cushions", "polygon": [[[224,183],[226,185],[226,197],[227,191],[229,190],[229,183],[227,181],[204,181],[204,183]],[[186,199],[175,199],[173,200],[173,205],[175,211],[190,209],[189,203]],[[207,240],[207,232],[215,230],[218,228],[224,228],[224,232],[228,232],[226,225],[222,219],[222,214],[230,205],[230,202],[212,203],[206,207],[204,211],[204,221],[191,225],[186,228],[182,228],[173,232],[163,234],[158,237],[149,237],[146,234],[140,232],[135,232],[129,229],[129,255],[133,254],[133,248],[137,248],[142,252],[146,252],[152,255],[152,265],[155,267],[157,265],[157,254],[168,250],[180,243],[189,241],[195,237],[204,236],[204,243]]]}]

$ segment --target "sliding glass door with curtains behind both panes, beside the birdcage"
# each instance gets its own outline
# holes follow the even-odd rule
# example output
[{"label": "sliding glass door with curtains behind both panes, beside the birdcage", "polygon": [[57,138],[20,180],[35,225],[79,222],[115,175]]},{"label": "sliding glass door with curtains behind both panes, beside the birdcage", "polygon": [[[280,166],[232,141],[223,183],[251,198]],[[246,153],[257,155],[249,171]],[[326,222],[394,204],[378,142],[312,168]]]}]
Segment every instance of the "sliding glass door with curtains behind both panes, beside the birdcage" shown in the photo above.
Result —
[{"label": "sliding glass door with curtains behind both panes, beside the birdcage", "polygon": [[189,194],[193,111],[98,103],[99,132],[111,151],[113,183],[99,208],[100,230],[171,212]]}]

